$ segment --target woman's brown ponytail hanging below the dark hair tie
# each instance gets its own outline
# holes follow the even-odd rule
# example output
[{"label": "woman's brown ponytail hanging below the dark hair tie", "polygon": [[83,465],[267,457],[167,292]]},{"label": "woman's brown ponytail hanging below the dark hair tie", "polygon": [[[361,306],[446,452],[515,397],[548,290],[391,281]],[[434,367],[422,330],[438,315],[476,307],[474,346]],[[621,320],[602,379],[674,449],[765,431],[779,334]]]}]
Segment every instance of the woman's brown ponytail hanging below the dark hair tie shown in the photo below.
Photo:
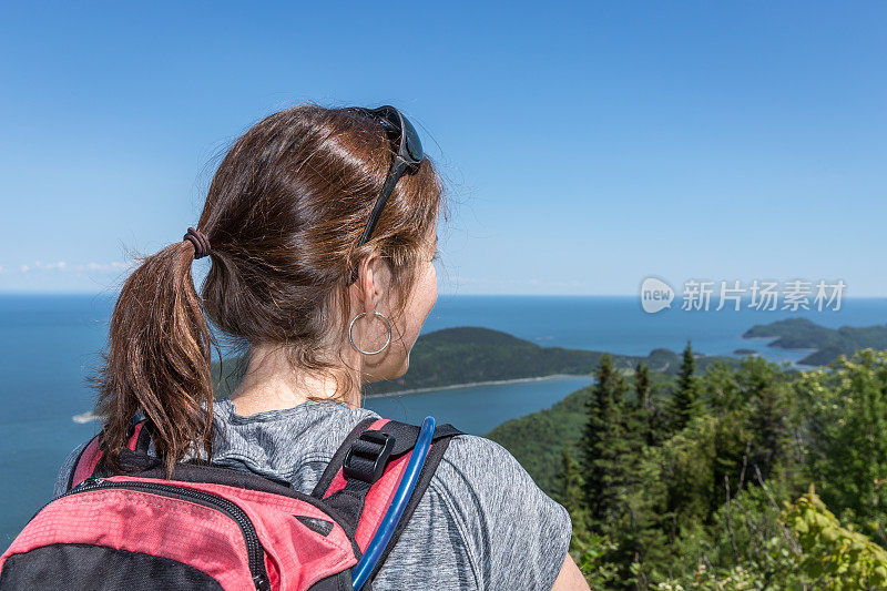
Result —
[{"label": "woman's brown ponytail hanging below the dark hair tie", "polygon": [[99,390],[103,461],[111,470],[121,469],[120,452],[140,410],[167,478],[192,451],[212,457],[215,340],[191,276],[194,255],[194,245],[183,241],[143,258],[114,305],[109,350],[91,378]]}]

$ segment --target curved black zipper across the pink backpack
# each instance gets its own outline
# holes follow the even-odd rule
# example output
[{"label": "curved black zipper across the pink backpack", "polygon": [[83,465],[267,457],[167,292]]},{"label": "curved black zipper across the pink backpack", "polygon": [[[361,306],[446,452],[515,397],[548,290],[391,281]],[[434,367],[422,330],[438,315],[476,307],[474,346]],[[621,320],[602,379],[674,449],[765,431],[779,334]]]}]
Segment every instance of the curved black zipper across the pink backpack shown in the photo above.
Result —
[{"label": "curved black zipper across the pink backpack", "polygon": [[[183,500],[194,501],[204,507],[216,509],[239,526],[243,532],[244,541],[246,542],[246,551],[249,559],[249,573],[253,575],[253,583],[258,591],[269,591],[271,583],[268,581],[268,571],[265,569],[265,549],[258,540],[258,534],[249,520],[249,517],[236,503],[210,492],[195,490],[186,487],[176,487],[174,485],[161,485],[159,482],[111,482],[102,478],[90,477],[83,480],[80,485],[72,488],[68,492],[55,497],[53,501],[68,497],[69,495],[77,495],[79,492],[90,492],[93,490],[103,490],[110,488],[122,488],[129,490],[142,490],[155,492],[164,497],[180,498]],[[52,501],[50,501],[52,502]],[[47,503],[49,505],[49,503]],[[42,509],[41,509],[42,510]]]}]

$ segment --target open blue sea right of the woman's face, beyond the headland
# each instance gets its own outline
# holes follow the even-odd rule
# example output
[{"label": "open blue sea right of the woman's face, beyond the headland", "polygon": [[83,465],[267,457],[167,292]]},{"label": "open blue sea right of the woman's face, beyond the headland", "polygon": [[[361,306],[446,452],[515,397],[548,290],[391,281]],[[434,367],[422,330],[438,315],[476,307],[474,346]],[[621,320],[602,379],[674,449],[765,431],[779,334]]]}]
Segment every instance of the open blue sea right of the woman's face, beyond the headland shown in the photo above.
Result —
[{"label": "open blue sea right of the woman's face, beyond the headland", "polygon": [[806,351],[767,347],[768,340],[744,339],[756,324],[785,318],[807,318],[822,326],[873,326],[887,324],[887,298],[844,298],[838,312],[755,310],[747,300],[738,312],[732,304],[714,312],[685,312],[680,302],[672,309],[648,314],[634,296],[443,296],[429,314],[422,330],[452,326],[486,326],[524,338],[543,347],[606,350],[646,355],[656,347],[693,349],[706,355],[732,355],[754,349],[772,361],[796,361]]}]

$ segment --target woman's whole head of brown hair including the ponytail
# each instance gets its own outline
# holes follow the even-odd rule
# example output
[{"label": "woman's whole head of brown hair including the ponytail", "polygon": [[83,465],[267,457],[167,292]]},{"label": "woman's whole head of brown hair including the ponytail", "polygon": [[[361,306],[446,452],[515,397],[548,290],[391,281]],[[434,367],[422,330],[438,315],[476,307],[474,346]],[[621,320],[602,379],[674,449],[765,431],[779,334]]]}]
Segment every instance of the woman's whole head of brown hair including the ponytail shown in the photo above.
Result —
[{"label": "woman's whole head of brown hair including the ponytail", "polygon": [[333,375],[337,398],[359,391],[323,357],[347,339],[348,323],[334,312],[347,313],[349,275],[373,252],[387,262],[399,303],[394,324],[438,212],[447,216],[443,183],[426,159],[397,183],[370,240],[357,247],[392,157],[378,121],[313,103],[263,119],[234,143],[196,225],[212,245],[202,294],[191,275],[194,246],[183,241],[140,257],[114,306],[109,350],[91,378],[105,466],[120,469],[136,411],[167,476],[191,452],[212,458],[217,343],[206,317],[243,347],[279,345],[290,363]]}]

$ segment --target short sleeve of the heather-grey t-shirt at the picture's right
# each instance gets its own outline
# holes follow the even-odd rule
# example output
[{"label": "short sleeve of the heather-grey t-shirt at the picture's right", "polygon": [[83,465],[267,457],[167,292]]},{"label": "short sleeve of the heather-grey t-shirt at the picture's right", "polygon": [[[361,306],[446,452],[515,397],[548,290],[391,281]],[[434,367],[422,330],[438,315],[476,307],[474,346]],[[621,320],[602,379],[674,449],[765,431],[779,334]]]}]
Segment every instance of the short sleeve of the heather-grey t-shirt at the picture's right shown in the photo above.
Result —
[{"label": "short sleeve of the heather-grey t-shirt at the picture's right", "polygon": [[458,475],[445,486],[480,588],[549,591],[570,547],[567,509],[506,448],[483,437],[455,437],[441,468]]}]

